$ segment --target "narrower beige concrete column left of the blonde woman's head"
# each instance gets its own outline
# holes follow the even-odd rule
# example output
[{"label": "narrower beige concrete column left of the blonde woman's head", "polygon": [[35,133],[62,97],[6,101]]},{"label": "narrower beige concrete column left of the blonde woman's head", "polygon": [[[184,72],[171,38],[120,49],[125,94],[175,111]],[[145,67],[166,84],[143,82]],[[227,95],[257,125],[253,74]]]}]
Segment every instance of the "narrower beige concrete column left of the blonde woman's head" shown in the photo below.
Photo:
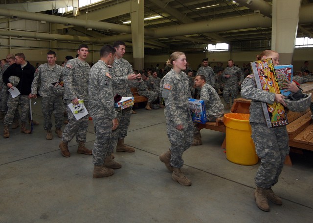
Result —
[{"label": "narrower beige concrete column left of the blonde woman's head", "polygon": [[144,68],[143,14],[144,0],[131,0],[134,69]]}]

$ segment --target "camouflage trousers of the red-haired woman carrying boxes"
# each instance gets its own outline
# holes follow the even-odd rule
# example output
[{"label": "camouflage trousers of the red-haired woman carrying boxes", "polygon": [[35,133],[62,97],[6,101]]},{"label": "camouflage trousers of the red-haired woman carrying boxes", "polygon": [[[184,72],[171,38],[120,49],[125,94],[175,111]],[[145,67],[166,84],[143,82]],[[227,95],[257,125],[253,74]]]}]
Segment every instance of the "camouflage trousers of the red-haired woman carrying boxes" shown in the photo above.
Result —
[{"label": "camouflage trousers of the red-haired woman carrying boxes", "polygon": [[289,137],[286,126],[268,128],[266,124],[250,122],[255,151],[261,160],[255,175],[258,187],[270,188],[278,182],[286,156]]}]

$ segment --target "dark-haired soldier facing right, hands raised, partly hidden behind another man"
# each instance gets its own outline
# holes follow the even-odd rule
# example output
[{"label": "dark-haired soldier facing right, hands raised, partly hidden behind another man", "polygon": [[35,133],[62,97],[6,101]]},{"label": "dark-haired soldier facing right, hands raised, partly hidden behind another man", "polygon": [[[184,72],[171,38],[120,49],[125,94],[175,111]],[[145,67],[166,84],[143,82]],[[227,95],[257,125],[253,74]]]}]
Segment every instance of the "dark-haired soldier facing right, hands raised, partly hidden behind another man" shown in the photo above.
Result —
[{"label": "dark-haired soldier facing right, hands raised, partly hidden behind another man", "polygon": [[[133,94],[128,85],[128,81],[141,79],[141,74],[134,74],[132,65],[123,57],[125,54],[125,43],[122,41],[115,41],[113,47],[116,49],[115,60],[110,70],[112,75],[113,95],[121,95],[122,97],[132,97]],[[112,72],[112,73],[111,73]],[[134,147],[125,145],[124,138],[127,136],[128,126],[131,118],[131,108],[123,109],[118,114],[119,126],[113,133],[113,143],[116,144],[116,152],[129,152],[135,151]]]}]

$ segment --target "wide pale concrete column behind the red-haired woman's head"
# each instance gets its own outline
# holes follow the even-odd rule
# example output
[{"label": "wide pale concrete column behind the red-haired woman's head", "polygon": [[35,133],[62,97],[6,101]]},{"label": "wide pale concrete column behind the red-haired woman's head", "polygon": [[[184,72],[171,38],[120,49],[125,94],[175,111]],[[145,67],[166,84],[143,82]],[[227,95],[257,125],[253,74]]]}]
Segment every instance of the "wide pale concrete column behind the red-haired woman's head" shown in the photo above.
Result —
[{"label": "wide pale concrete column behind the red-haired woman's head", "polygon": [[301,0],[273,0],[272,50],[280,64],[291,64],[297,36]]}]

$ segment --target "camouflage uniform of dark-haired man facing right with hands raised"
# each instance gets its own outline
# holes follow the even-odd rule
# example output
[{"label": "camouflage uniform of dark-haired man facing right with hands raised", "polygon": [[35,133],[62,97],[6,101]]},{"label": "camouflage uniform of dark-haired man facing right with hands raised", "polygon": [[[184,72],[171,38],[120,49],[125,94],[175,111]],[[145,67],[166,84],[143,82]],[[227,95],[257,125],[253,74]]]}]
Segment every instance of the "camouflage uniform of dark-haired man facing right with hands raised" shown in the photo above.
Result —
[{"label": "camouflage uniform of dark-haired man facing right with hands raised", "polygon": [[[133,97],[132,91],[128,86],[127,76],[133,74],[132,65],[125,59],[116,59],[110,69],[112,75],[113,95],[119,94],[122,97]],[[118,114],[118,127],[114,132],[118,132],[118,138],[124,139],[127,136],[128,126],[131,122],[131,108],[123,109]],[[114,139],[117,143],[118,139]],[[115,142],[114,142],[115,143]]]}]

